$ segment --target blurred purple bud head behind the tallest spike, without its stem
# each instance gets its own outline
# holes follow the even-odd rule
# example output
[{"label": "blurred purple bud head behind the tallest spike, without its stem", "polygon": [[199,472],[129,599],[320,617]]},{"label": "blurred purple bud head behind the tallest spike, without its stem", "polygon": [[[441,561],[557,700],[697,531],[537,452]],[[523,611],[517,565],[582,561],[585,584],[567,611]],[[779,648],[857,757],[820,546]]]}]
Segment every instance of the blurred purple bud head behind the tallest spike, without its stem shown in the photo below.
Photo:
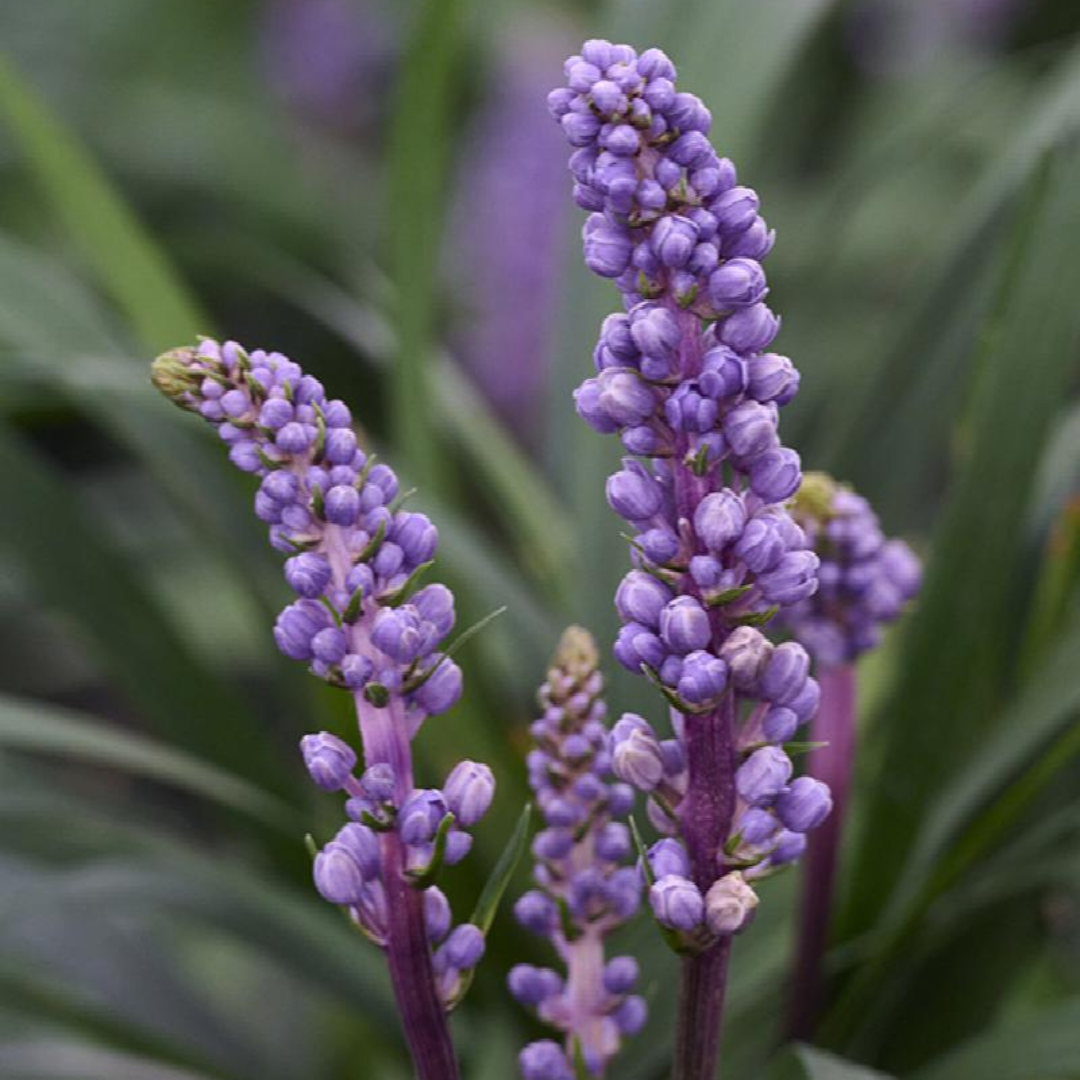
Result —
[{"label": "blurred purple bud head behind the tallest spike, without its stem", "polygon": [[877,646],[919,591],[922,569],[903,540],[887,540],[870,504],[824,473],[807,473],[793,511],[821,557],[818,592],[784,621],[821,669]]}]

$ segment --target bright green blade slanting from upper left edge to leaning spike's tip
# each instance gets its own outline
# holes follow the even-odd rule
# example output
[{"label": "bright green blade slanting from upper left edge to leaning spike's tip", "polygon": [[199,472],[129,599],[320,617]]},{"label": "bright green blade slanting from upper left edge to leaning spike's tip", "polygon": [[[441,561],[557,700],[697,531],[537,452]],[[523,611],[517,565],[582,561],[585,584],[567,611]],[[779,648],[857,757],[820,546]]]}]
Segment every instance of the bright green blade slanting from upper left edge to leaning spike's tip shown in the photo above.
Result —
[{"label": "bright green blade slanting from upper left edge to leaning spike's tip", "polygon": [[206,333],[208,322],[105,175],[2,57],[0,118],[66,233],[144,347],[156,354]]}]

